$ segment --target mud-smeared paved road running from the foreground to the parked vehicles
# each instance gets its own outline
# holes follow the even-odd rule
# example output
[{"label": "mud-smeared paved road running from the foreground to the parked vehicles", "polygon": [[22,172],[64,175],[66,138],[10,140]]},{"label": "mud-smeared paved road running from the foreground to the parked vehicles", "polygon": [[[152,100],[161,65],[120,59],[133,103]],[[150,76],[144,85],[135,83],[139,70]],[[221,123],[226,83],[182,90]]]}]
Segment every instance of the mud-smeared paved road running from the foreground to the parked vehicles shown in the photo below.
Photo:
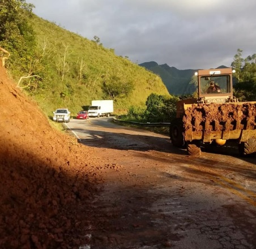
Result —
[{"label": "mud-smeared paved road running from the foreground to the parked vehicles", "polygon": [[229,145],[187,156],[168,136],[108,118],[68,126],[104,176],[81,248],[256,248],[255,158]]}]

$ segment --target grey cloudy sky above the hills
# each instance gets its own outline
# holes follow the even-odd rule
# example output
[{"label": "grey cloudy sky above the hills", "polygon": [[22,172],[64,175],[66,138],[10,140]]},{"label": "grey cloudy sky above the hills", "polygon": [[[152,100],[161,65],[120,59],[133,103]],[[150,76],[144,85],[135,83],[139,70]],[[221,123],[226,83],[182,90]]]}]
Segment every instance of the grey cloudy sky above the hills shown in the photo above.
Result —
[{"label": "grey cloudy sky above the hills", "polygon": [[27,0],[34,13],[135,63],[231,66],[256,53],[255,0]]}]

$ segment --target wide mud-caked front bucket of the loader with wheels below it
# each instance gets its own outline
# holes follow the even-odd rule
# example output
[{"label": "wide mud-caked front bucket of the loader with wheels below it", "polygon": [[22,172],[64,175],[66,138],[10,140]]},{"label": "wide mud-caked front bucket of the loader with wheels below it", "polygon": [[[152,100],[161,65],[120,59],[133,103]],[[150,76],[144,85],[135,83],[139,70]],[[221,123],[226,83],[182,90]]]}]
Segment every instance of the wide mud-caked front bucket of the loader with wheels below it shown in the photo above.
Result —
[{"label": "wide mud-caked front bucket of the loader with wheels below it", "polygon": [[189,154],[198,142],[234,139],[241,155],[256,152],[256,102],[184,105],[184,140]]}]

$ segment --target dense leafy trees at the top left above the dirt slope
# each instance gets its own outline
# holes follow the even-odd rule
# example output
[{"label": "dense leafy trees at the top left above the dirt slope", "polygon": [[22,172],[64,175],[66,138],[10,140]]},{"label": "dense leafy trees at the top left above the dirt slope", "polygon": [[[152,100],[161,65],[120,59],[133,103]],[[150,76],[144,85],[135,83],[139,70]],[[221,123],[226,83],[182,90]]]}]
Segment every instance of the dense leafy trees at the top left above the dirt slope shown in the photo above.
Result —
[{"label": "dense leafy trees at the top left above the dirt slope", "polygon": [[22,74],[17,87],[36,92],[42,85],[42,53],[36,46],[29,18],[35,6],[25,0],[0,0],[0,45],[11,54],[7,66]]}]

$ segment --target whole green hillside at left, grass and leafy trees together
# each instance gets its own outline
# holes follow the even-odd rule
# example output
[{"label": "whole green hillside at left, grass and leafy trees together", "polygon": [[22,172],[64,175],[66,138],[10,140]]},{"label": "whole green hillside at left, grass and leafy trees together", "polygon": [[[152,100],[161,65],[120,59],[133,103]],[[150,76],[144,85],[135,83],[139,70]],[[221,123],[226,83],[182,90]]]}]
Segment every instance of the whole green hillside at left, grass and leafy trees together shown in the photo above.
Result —
[{"label": "whole green hillside at left, grass and leafy trees together", "polygon": [[[0,46],[11,54],[6,67],[46,115],[59,107],[75,115],[99,99],[114,100],[115,113],[125,114],[130,106],[144,106],[151,93],[168,95],[159,76],[104,48],[99,37],[88,40],[43,20],[32,14],[33,6],[24,0],[0,3],[1,14],[7,16],[1,19],[1,28],[8,27],[9,18],[19,34],[10,40],[1,29]],[[12,12],[23,18],[9,17]]]}]

